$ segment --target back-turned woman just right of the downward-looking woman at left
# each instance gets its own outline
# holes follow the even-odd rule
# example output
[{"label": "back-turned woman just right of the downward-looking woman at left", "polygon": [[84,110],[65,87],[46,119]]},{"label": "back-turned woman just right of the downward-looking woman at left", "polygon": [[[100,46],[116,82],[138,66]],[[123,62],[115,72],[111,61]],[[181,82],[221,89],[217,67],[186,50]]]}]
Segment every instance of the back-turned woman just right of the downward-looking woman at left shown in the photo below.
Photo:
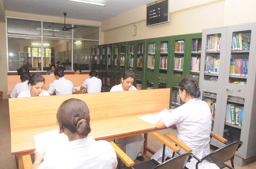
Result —
[{"label": "back-turned woman just right of the downward-looking woman at left", "polygon": [[56,80],[50,84],[50,88],[48,89],[50,95],[54,93],[56,95],[71,95],[75,92],[73,83],[65,79],[62,69],[56,69],[54,76]]}]

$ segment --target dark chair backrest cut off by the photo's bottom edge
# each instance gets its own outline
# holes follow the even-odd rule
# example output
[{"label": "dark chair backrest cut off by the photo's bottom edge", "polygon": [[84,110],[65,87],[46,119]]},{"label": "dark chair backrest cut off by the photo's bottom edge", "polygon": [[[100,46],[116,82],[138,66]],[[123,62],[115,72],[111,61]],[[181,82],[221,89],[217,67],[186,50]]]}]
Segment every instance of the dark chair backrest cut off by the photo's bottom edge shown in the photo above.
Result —
[{"label": "dark chair backrest cut off by the photo's bottom edge", "polygon": [[183,169],[187,162],[193,157],[191,152],[180,154],[176,157],[173,157],[169,160],[164,161],[163,163],[156,165],[153,169]]}]

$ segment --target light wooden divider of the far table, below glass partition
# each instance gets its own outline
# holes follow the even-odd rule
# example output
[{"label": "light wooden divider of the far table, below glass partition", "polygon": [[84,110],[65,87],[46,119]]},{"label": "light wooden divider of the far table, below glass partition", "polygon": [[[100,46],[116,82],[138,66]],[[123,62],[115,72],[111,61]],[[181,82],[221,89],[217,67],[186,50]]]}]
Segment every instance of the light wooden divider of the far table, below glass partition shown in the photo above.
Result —
[{"label": "light wooden divider of the far table, below glass partition", "polygon": [[[55,81],[54,75],[42,75],[45,79],[44,90],[48,90],[50,83]],[[74,87],[81,86],[85,79],[89,78],[89,74],[65,74],[66,79],[72,81]],[[7,95],[11,95],[14,86],[20,83],[20,75],[7,76],[8,92]]]}]

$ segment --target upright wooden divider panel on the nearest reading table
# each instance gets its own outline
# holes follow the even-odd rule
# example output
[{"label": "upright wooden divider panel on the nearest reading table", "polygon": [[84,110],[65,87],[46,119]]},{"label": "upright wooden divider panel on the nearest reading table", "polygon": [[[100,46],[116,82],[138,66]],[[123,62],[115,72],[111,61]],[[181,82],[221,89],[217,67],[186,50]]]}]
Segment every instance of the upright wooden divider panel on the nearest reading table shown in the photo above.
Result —
[{"label": "upright wooden divider panel on the nearest reading table", "polygon": [[76,95],[9,98],[11,131],[56,126],[60,104],[70,98],[83,100],[91,121],[157,113],[169,108],[170,88]]}]

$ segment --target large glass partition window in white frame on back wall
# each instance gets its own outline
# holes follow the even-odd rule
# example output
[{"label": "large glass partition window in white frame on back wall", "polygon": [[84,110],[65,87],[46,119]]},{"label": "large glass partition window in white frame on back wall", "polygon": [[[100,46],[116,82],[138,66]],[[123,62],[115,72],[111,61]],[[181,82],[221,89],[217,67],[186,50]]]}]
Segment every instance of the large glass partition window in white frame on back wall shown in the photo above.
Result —
[{"label": "large glass partition window in white frame on back wall", "polygon": [[[72,37],[72,29],[62,30],[64,23],[6,18],[8,71],[17,71],[22,66],[32,71],[45,71],[51,64],[63,66],[70,71],[76,67],[82,70],[92,68],[92,48],[89,46],[99,45],[99,27],[66,24],[66,27],[74,27]],[[95,62],[98,65],[99,52],[97,48]]]}]

